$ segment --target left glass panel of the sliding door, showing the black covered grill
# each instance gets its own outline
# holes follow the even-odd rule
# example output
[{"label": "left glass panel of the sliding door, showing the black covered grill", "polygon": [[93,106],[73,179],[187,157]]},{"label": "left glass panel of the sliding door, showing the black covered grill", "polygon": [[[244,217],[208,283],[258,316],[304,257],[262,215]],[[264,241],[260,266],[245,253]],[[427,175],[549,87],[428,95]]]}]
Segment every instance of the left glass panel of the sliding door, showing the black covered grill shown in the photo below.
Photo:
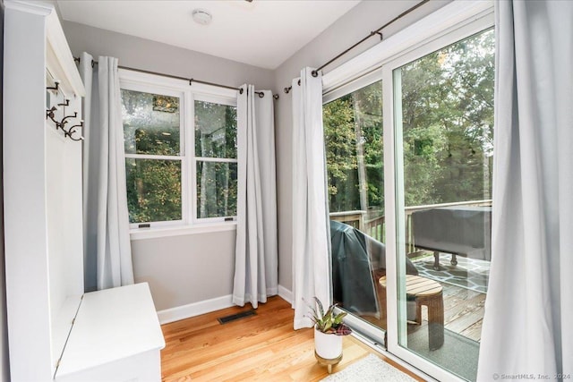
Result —
[{"label": "left glass panel of the sliding door, showing the black covered grill", "polygon": [[323,122],[334,301],[386,329],[381,81],[325,104]]}]

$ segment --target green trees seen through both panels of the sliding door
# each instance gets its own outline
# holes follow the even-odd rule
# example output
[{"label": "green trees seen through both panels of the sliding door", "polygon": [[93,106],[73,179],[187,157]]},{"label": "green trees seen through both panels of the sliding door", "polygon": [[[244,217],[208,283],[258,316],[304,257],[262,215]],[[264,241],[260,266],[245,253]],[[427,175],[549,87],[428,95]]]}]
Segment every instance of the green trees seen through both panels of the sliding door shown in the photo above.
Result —
[{"label": "green trees seen through both panels of the sliding door", "polygon": [[[406,206],[491,199],[493,30],[397,71]],[[381,81],[329,102],[323,122],[330,211],[383,215]]]}]

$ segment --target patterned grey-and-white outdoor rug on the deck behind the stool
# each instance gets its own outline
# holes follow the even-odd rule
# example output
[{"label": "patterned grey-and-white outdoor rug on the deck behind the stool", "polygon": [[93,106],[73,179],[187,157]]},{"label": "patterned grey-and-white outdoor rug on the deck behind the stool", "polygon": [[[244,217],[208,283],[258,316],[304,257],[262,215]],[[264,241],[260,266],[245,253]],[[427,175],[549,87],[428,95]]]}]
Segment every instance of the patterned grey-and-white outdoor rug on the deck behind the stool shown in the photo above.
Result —
[{"label": "patterned grey-and-white outdoor rug on the deck behind the stool", "polygon": [[452,266],[449,253],[440,253],[440,270],[433,269],[433,255],[413,261],[420,276],[440,283],[461,286],[479,293],[487,293],[490,262],[458,256],[458,265]]}]

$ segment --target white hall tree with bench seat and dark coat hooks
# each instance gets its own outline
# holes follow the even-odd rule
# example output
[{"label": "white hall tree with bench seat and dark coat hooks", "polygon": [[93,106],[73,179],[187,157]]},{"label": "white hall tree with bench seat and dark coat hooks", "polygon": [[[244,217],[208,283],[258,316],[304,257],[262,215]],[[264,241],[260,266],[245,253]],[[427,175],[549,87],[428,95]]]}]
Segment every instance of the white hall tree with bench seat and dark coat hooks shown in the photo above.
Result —
[{"label": "white hall tree with bench seat and dark coat hooks", "polygon": [[[54,80],[59,91],[47,95]],[[83,293],[81,141],[47,108],[63,104],[56,121],[80,123],[84,89],[51,6],[4,0],[3,92],[13,381],[160,380],[165,343],[148,285]]]}]

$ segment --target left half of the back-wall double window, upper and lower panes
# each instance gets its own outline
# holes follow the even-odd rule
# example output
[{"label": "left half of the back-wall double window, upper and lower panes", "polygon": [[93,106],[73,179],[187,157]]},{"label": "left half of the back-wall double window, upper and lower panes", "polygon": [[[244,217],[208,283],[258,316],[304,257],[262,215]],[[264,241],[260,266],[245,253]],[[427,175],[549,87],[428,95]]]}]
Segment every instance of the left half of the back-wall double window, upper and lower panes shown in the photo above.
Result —
[{"label": "left half of the back-wall double window, upper and lower panes", "polygon": [[122,89],[130,223],[183,220],[180,99]]}]

